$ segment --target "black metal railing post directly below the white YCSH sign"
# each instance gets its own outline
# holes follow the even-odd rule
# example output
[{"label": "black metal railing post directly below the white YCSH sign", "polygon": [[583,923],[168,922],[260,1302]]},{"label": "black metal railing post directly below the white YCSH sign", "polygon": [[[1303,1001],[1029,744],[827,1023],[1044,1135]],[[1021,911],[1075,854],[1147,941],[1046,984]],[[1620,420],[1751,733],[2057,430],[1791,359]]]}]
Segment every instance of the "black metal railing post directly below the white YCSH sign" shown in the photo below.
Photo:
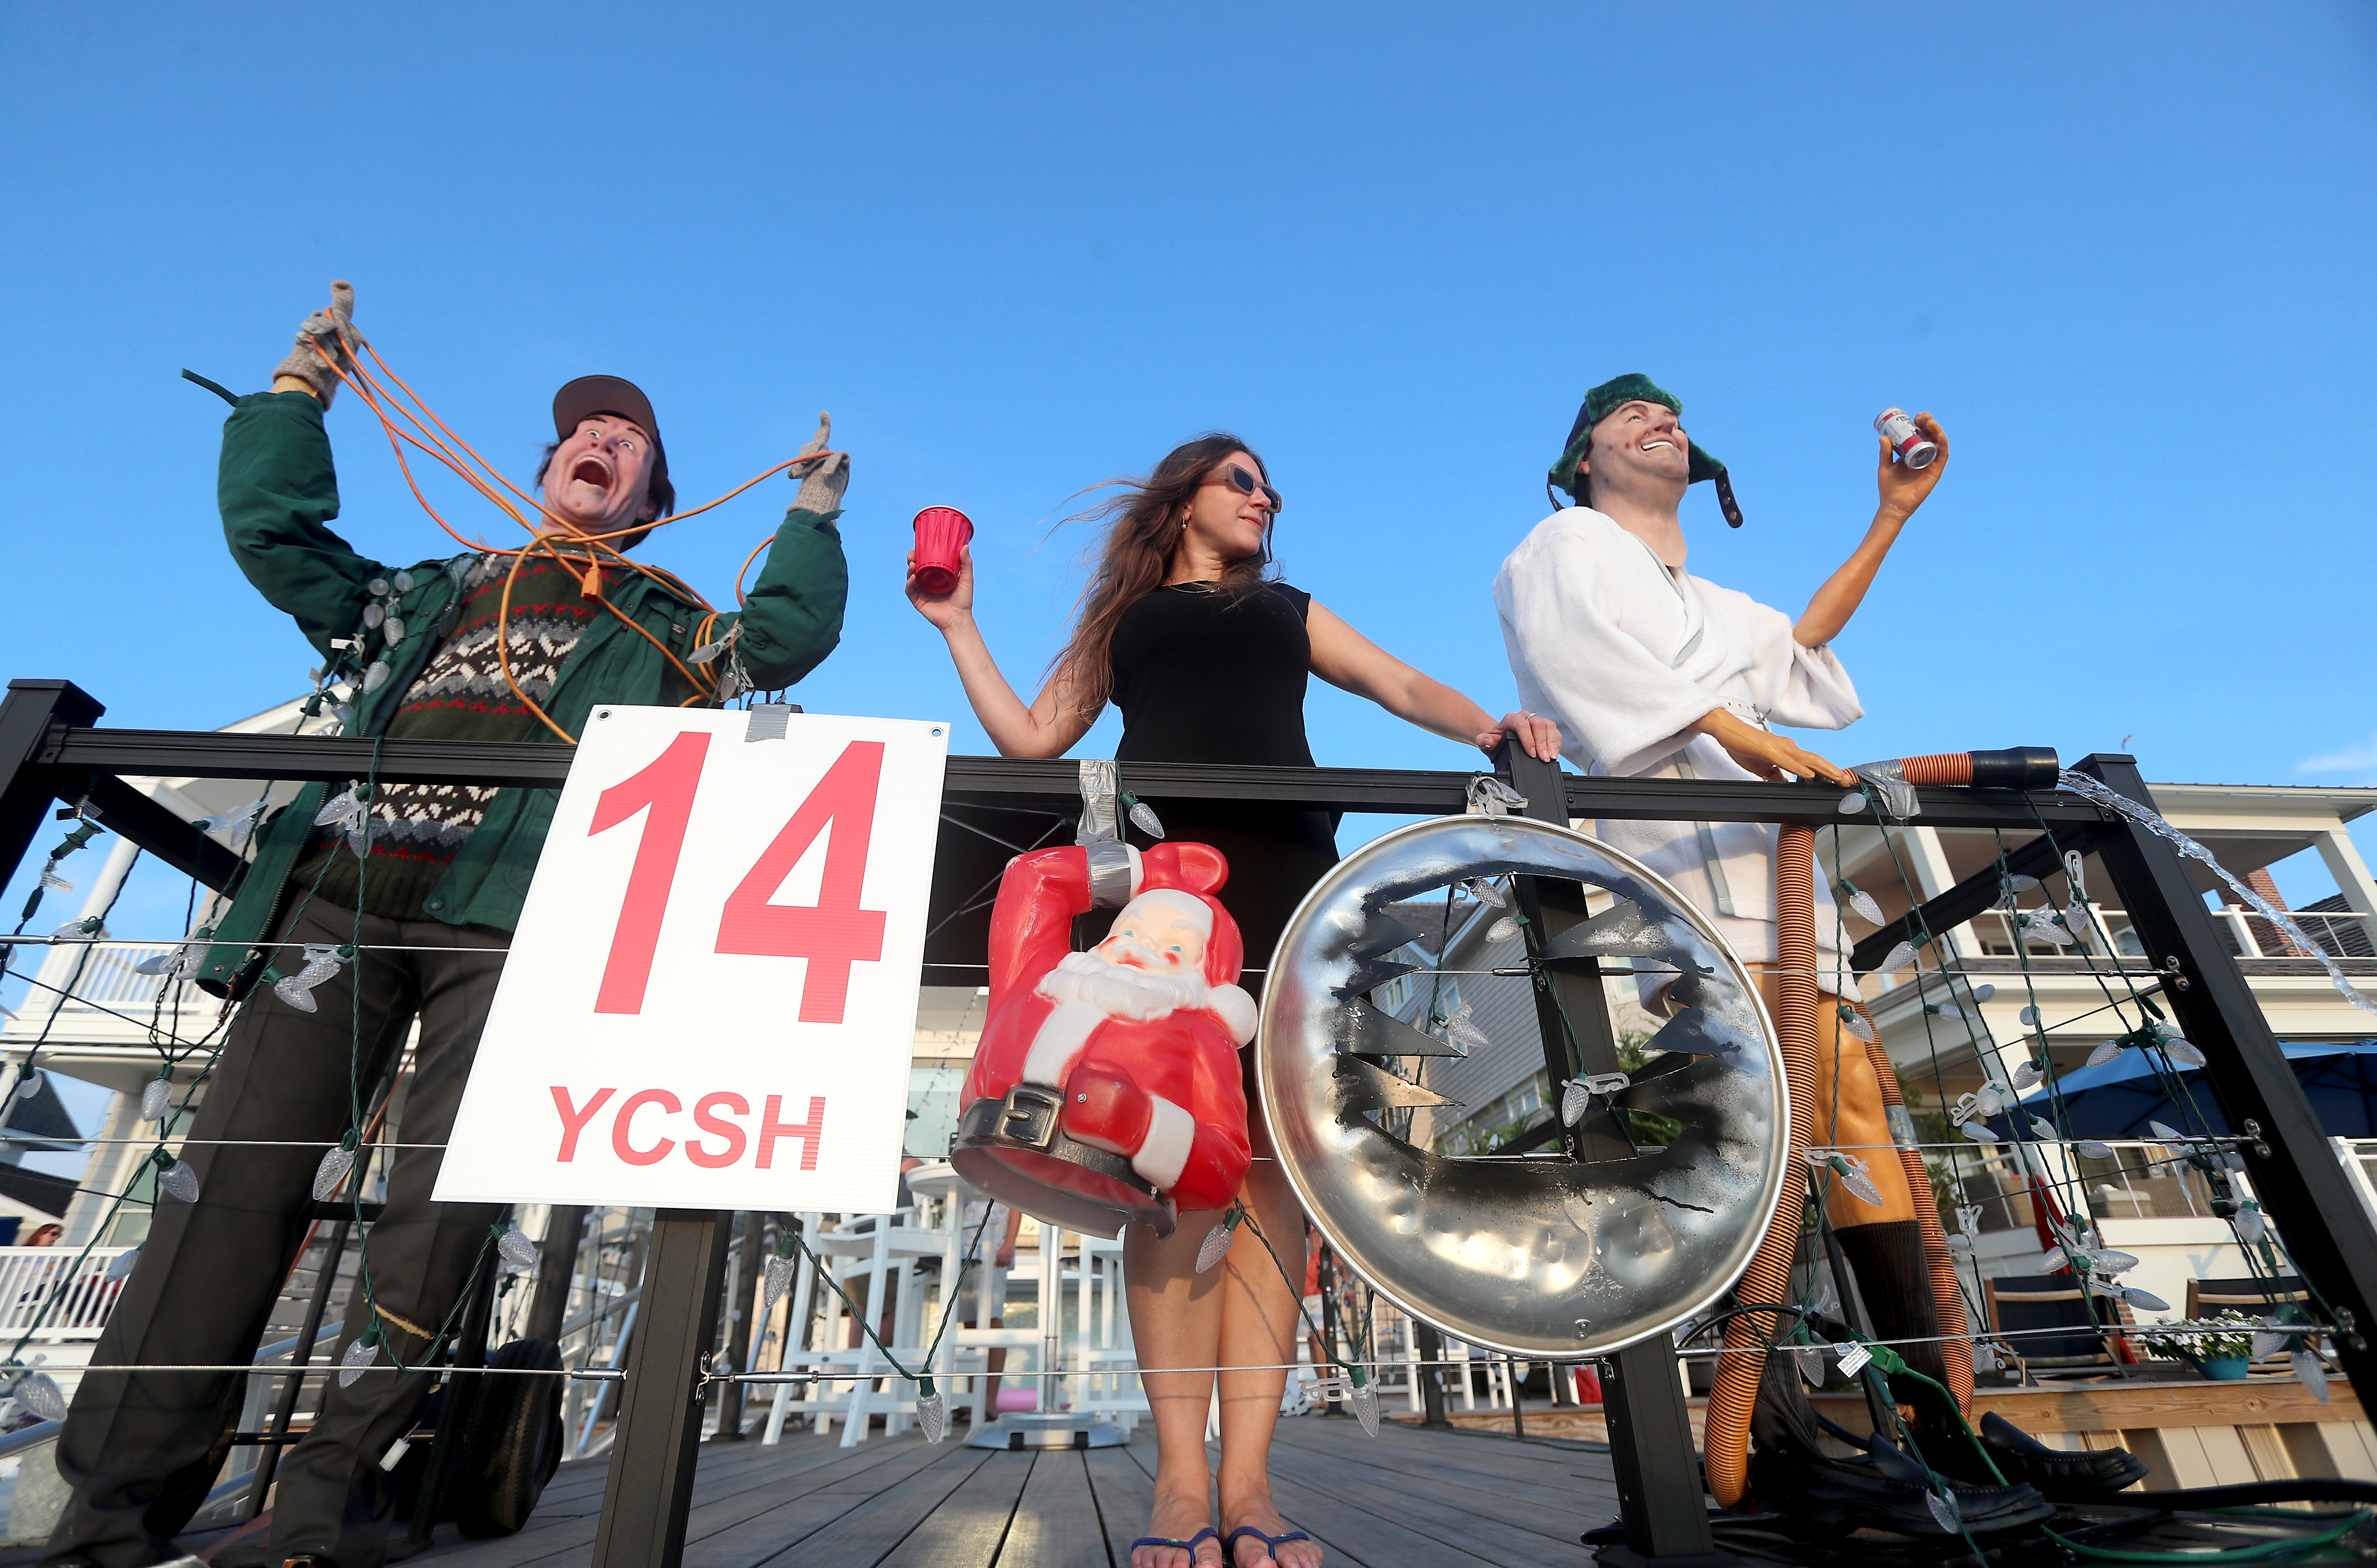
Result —
[{"label": "black metal railing post directly below the white YCSH sign", "polygon": [[594,1568],[677,1568],[701,1447],[701,1359],[718,1330],[732,1214],[658,1209],[635,1357],[618,1397]]}]

